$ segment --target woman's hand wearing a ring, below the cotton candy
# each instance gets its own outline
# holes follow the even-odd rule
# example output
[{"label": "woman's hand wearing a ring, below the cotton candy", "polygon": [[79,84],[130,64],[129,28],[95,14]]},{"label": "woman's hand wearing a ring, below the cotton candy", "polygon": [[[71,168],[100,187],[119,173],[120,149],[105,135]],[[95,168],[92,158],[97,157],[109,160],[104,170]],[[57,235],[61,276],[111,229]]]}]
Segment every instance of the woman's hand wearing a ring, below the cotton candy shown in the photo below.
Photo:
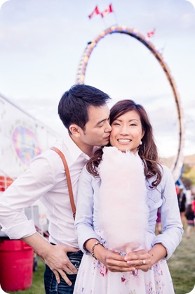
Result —
[{"label": "woman's hand wearing a ring, below the cotton candy", "polygon": [[128,253],[125,260],[130,267],[142,269],[142,271],[148,271],[152,267],[151,255],[145,249]]}]

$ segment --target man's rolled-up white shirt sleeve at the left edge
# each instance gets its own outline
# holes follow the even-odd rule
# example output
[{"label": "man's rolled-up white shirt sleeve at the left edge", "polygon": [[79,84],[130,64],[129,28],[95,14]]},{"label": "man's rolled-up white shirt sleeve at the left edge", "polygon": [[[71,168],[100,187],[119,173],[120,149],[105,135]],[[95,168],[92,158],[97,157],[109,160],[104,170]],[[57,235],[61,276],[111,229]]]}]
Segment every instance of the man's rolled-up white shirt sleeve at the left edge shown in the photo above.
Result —
[{"label": "man's rolled-up white shirt sleeve at the left edge", "polygon": [[30,167],[0,196],[1,231],[11,239],[31,236],[34,221],[27,219],[24,208],[44,196],[53,185],[53,170],[46,158],[33,160]]}]

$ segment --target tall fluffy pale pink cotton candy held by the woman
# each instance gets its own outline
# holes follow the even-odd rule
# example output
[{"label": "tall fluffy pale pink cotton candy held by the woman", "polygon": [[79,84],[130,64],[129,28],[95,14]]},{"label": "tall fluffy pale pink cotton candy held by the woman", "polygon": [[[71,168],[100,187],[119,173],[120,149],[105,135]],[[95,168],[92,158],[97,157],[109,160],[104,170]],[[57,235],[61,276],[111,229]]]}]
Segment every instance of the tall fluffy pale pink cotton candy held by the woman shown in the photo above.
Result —
[{"label": "tall fluffy pale pink cotton candy held by the woman", "polygon": [[99,217],[107,247],[126,253],[144,243],[148,207],[144,167],[139,155],[104,147]]}]

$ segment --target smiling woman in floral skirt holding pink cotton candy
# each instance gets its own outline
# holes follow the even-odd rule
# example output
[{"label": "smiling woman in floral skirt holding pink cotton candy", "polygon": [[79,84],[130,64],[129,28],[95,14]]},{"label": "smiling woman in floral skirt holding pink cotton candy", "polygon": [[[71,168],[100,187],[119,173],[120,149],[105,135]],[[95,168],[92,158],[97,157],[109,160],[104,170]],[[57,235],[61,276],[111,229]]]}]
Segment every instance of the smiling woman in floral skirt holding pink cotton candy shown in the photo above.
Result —
[{"label": "smiling woman in floral skirt holding pink cotton candy", "polygon": [[[79,180],[75,226],[79,246],[86,254],[83,255],[74,294],[172,294],[173,283],[166,260],[179,245],[183,234],[172,174],[167,167],[158,163],[152,126],[142,106],[131,100],[119,101],[110,111],[110,124],[112,126],[110,146],[113,147],[97,149],[83,169]],[[112,160],[108,159],[111,154],[107,152],[109,148],[112,151]],[[142,171],[140,170],[138,175],[139,169],[135,166],[135,162],[132,166],[137,179],[131,179],[134,172],[122,173],[123,167],[124,170],[128,170],[126,162],[130,162],[129,158],[132,154],[133,160],[135,158],[137,160],[137,165],[139,159],[142,162],[144,187]],[[119,160],[115,160],[115,157]],[[107,171],[102,169],[105,161]],[[119,167],[121,161],[122,165]],[[118,165],[117,169],[115,165]],[[110,177],[108,178],[107,175]],[[107,181],[104,180],[105,177]],[[110,179],[114,180],[110,181]],[[127,186],[128,181],[130,185]],[[125,191],[123,185],[126,185]],[[118,186],[120,189],[115,193]],[[134,193],[136,193],[135,197],[133,197]],[[115,205],[114,209],[117,205],[113,195],[118,196],[119,210],[112,213],[113,205]],[[131,208],[126,196],[129,196],[130,201],[133,202]],[[101,201],[103,200],[102,203],[105,205],[104,201],[107,198],[111,200],[107,203],[107,207],[104,207]],[[120,202],[121,198],[123,200]],[[136,204],[137,198],[142,198],[138,204]],[[146,205],[148,212],[145,210]],[[159,208],[162,234],[155,236],[156,214]],[[129,217],[132,214],[135,221]],[[139,222],[137,215],[141,217],[142,222]],[[144,222],[145,217],[147,222]],[[109,235],[107,225],[112,222],[115,223],[120,238],[120,230],[122,231],[123,246],[120,243],[122,238],[119,243],[113,242],[117,239],[113,228],[111,228],[112,236]],[[120,228],[117,222],[120,222]],[[126,223],[130,227],[129,230]],[[126,229],[123,229],[123,225]],[[139,234],[140,231],[142,234]]]}]

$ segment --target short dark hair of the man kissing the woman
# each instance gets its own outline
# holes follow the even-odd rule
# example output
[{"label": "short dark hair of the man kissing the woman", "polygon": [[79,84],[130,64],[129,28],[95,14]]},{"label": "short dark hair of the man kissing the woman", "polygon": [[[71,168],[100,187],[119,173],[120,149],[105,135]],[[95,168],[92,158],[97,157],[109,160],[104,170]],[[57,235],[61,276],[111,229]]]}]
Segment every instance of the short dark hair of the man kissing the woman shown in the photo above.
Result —
[{"label": "short dark hair of the man kissing the woman", "polygon": [[58,105],[58,115],[68,131],[71,124],[77,124],[84,130],[89,106],[103,106],[109,99],[109,95],[95,87],[77,84],[63,94]]}]

